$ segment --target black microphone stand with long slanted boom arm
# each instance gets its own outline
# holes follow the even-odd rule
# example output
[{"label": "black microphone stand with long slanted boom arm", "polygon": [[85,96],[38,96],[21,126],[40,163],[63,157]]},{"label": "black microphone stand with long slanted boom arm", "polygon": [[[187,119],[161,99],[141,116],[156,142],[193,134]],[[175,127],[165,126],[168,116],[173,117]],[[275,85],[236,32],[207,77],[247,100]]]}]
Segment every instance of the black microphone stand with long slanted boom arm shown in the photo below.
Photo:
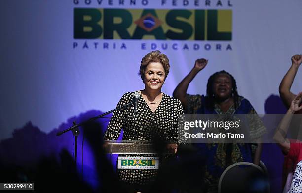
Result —
[{"label": "black microphone stand with long slanted boom arm", "polygon": [[60,132],[57,133],[57,136],[60,136],[60,135],[62,135],[62,134],[64,134],[64,133],[66,133],[66,132],[72,130],[73,135],[75,136],[75,149],[74,149],[74,151],[75,151],[75,158],[74,158],[74,159],[75,159],[75,163],[76,163],[76,156],[77,156],[77,137],[78,137],[78,135],[79,135],[79,129],[78,129],[78,127],[79,127],[79,126],[82,126],[82,125],[84,125],[84,124],[86,124],[86,123],[89,123],[90,121],[94,121],[94,120],[96,120],[96,119],[98,119],[98,118],[102,118],[102,117],[104,117],[105,115],[110,114],[110,113],[112,113],[112,112],[114,112],[114,111],[116,111],[116,110],[120,110],[120,109],[122,109],[122,108],[128,107],[128,106],[130,106],[130,105],[132,105],[132,104],[133,104],[133,101],[132,101],[131,103],[128,103],[128,104],[123,105],[123,106],[121,106],[121,107],[118,107],[118,108],[116,108],[116,109],[113,109],[113,110],[110,110],[110,111],[108,111],[108,112],[105,112],[105,113],[103,113],[103,114],[101,114],[101,115],[99,115],[99,116],[92,117],[92,118],[88,119],[87,121],[81,122],[81,123],[79,123],[79,124],[76,124],[76,121],[73,121],[73,126],[71,126],[70,128],[65,129],[65,130],[60,131]]}]

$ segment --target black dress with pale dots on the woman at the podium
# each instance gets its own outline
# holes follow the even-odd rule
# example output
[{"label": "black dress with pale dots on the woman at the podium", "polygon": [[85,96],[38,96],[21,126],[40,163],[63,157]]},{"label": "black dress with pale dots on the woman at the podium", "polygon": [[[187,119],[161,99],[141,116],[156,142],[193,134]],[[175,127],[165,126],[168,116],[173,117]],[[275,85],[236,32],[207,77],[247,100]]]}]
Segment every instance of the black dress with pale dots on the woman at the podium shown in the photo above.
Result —
[{"label": "black dress with pale dots on the woman at the podium", "polygon": [[[119,100],[117,107],[132,101],[134,92],[128,92]],[[138,112],[134,114],[134,105],[113,113],[112,119],[105,132],[105,140],[117,140],[123,129],[122,140],[147,140],[161,138],[165,141],[178,141],[179,115],[184,114],[178,99],[163,94],[163,98],[152,112],[142,95],[138,103]],[[182,142],[182,141],[178,141]],[[157,156],[119,155],[119,156]],[[159,167],[161,161],[159,160]],[[157,169],[118,169],[119,178],[126,183],[147,184],[156,177]]]}]

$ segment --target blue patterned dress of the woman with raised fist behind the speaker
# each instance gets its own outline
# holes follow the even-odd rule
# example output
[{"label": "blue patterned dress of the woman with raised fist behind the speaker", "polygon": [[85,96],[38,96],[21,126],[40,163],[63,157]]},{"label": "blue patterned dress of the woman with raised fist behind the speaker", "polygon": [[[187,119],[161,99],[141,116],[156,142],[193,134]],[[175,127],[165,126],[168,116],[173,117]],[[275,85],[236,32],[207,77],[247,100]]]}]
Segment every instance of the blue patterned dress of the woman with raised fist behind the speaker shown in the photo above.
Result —
[{"label": "blue patterned dress of the woman with raised fist behind the speaker", "polygon": [[[188,114],[257,114],[251,103],[243,98],[238,98],[238,108],[232,105],[226,113],[224,113],[218,104],[214,105],[214,109],[206,108],[206,97],[204,95],[187,95],[187,113]],[[254,119],[249,121],[250,135],[258,138],[265,133],[265,127],[260,117],[253,116]],[[206,157],[205,178],[209,184],[207,193],[218,192],[218,182],[223,171],[234,163],[253,162],[253,155],[257,149],[257,144],[195,144],[199,149],[199,153]],[[231,150],[231,151],[230,151]]]}]

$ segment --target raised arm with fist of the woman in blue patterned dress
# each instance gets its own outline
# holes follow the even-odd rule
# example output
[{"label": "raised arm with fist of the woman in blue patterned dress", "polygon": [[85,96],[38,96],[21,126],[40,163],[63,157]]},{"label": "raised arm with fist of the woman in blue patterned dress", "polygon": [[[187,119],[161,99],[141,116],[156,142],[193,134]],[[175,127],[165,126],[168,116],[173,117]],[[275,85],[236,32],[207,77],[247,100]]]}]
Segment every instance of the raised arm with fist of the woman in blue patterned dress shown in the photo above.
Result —
[{"label": "raised arm with fist of the woman in blue patterned dress", "polygon": [[187,110],[187,101],[186,101],[186,94],[189,87],[189,83],[194,79],[196,74],[202,70],[208,63],[208,60],[202,58],[197,59],[195,61],[194,67],[189,72],[189,74],[177,85],[173,92],[173,97],[179,99],[185,109]]}]

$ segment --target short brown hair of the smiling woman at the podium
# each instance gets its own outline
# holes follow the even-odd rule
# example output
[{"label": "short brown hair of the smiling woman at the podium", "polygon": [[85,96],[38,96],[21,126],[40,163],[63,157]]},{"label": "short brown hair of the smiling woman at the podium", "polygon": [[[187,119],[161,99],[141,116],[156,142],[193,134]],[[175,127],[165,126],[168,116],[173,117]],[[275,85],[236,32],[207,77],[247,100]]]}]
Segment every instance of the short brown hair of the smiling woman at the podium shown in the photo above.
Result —
[{"label": "short brown hair of the smiling woman at the podium", "polygon": [[162,64],[162,67],[165,70],[165,79],[166,79],[170,70],[169,59],[165,54],[161,53],[159,50],[155,50],[145,55],[141,61],[139,75],[141,76],[142,80],[144,80],[146,67],[151,62],[159,62]]}]

